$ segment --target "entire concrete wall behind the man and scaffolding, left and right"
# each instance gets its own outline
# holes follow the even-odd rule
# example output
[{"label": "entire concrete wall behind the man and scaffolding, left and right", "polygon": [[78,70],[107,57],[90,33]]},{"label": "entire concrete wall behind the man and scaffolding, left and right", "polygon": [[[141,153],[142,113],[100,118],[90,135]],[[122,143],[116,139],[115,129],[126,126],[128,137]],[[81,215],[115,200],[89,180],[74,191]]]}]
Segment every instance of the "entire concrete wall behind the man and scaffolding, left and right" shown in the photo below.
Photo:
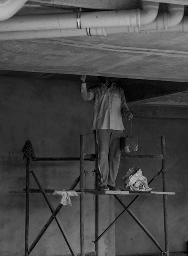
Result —
[{"label": "entire concrete wall behind the man and scaffolding, left and right", "polygon": [[[95,83],[95,81],[94,81]],[[92,85],[91,80],[89,85]],[[24,255],[25,194],[9,193],[25,188],[25,166],[21,152],[26,140],[31,140],[38,157],[78,157],[80,134],[85,135],[86,152],[94,153],[94,136],[90,131],[93,102],[80,98],[76,80],[35,80],[0,77],[0,255]],[[126,127],[126,119],[124,120]],[[188,135],[187,120],[133,119],[134,135],[139,137],[139,152],[161,152],[161,136],[166,139],[166,168],[168,191],[181,194],[168,197],[170,250],[186,250],[187,241],[187,180]],[[126,132],[125,132],[126,135]],[[117,186],[123,187],[122,176],[128,168],[137,166],[150,180],[161,168],[158,160],[121,160]],[[31,169],[45,188],[68,189],[79,175],[78,162],[36,162]],[[94,162],[86,162],[86,188],[94,187]],[[162,190],[162,178],[152,184]],[[37,188],[31,177],[31,187]],[[48,194],[54,207],[59,197]],[[133,196],[122,196],[127,205]],[[63,207],[58,216],[77,253],[79,242],[79,199],[71,198],[72,207]],[[116,216],[123,210],[115,202]],[[164,247],[163,202],[160,195],[141,196],[131,207],[136,216]],[[113,197],[100,196],[101,233],[114,219]],[[30,195],[29,245],[51,215],[41,194]],[[85,251],[94,251],[94,198],[85,196]],[[115,256],[158,252],[145,233],[125,213],[100,240],[100,256]],[[68,254],[69,249],[53,222],[31,256],[57,256]]]}]

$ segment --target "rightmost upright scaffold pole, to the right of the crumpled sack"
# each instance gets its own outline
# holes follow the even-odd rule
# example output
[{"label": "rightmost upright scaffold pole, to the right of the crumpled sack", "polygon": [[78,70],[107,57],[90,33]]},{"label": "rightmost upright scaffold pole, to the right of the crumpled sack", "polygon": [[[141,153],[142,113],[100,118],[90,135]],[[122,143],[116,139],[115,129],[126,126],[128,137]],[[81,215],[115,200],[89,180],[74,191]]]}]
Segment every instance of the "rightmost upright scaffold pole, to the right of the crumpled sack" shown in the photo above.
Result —
[{"label": "rightmost upright scaffold pole, to the right of the crumpled sack", "polygon": [[[161,137],[162,146],[162,168],[163,168],[163,191],[166,192],[166,152],[165,152],[165,138]],[[169,234],[168,234],[168,213],[167,213],[167,195],[163,195],[163,206],[164,206],[164,239],[165,239],[165,251],[166,255],[169,256]]]}]

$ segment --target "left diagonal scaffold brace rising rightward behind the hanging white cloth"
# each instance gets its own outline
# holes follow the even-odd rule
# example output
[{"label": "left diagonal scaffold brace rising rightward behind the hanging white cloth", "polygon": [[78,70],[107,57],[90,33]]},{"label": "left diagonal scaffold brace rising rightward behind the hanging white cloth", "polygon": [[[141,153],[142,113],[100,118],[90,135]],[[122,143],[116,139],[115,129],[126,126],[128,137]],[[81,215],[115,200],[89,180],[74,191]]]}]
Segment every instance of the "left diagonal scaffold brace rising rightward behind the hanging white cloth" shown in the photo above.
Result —
[{"label": "left diagonal scaffold brace rising rightward behind the hanging white cloth", "polygon": [[[72,183],[72,185],[71,185],[69,190],[73,190],[76,187],[76,185],[78,184],[78,182],[79,182],[79,177]],[[58,214],[58,212],[60,211],[60,209],[62,207],[63,207],[63,205],[61,203],[59,203],[58,206],[55,208],[55,210],[53,211],[52,215],[48,219],[47,223],[44,225],[44,227],[39,232],[39,235],[36,237],[36,239],[31,244],[31,246],[30,246],[30,248],[28,250],[28,255],[31,253],[32,249],[36,246],[36,244],[38,243],[38,241],[40,240],[40,238],[42,237],[44,232],[47,230],[48,226],[52,223],[52,221],[54,220],[55,216]],[[77,254],[73,254],[73,256],[76,256],[76,255]]]}]

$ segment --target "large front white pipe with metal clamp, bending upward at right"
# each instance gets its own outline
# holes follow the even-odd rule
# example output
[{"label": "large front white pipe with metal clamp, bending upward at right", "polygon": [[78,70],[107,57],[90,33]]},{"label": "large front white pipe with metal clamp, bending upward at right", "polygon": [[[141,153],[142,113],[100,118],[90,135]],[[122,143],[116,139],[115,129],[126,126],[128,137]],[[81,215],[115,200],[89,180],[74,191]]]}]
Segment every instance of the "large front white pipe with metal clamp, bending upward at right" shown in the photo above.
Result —
[{"label": "large front white pipe with metal clamp, bending upward at right", "polygon": [[0,22],[0,32],[140,26],[155,20],[159,4],[142,1],[142,10],[20,15]]}]

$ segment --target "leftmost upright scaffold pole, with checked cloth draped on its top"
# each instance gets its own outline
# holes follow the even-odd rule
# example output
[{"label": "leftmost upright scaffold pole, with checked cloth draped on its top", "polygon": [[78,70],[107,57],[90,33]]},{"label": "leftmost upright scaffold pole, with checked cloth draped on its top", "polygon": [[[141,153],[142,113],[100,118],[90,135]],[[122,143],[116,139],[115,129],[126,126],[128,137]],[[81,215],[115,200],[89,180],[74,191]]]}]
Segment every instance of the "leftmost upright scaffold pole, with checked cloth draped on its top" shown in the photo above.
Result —
[{"label": "leftmost upright scaffold pole, with checked cloth draped on its top", "polygon": [[25,256],[29,255],[28,240],[29,240],[29,190],[30,190],[30,159],[26,160],[26,197],[25,197]]}]

